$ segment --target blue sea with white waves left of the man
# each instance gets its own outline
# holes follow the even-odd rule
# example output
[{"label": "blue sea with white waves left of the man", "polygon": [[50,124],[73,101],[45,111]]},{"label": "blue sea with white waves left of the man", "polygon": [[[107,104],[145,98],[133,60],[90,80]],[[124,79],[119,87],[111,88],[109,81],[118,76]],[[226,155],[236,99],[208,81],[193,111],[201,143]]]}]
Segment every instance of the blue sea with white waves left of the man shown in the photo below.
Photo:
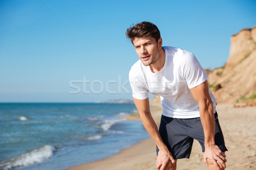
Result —
[{"label": "blue sea with white waves left of the man", "polygon": [[150,136],[125,103],[0,103],[0,170],[63,170]]}]

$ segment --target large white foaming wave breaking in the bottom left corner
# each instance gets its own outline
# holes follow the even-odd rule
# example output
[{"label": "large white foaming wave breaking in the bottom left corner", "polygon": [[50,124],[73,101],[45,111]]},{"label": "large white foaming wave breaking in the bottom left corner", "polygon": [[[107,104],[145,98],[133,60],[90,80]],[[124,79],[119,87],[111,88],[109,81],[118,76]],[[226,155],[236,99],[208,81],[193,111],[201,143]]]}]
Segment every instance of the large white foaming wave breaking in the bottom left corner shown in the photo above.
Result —
[{"label": "large white foaming wave breaking in the bottom left corner", "polygon": [[55,147],[44,145],[43,147],[39,147],[28,153],[23,153],[22,155],[0,161],[0,169],[9,170],[14,167],[29,166],[39,163],[52,157],[54,151]]}]

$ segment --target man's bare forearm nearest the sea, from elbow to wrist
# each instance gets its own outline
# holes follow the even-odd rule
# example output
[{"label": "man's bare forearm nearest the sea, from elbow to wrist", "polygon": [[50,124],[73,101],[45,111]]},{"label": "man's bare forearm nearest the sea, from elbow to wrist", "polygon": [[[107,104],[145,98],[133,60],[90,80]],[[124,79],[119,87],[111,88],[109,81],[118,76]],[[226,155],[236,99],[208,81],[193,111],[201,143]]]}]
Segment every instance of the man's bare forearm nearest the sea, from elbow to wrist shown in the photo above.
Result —
[{"label": "man's bare forearm nearest the sea, from elbow to wrist", "polygon": [[159,150],[168,150],[166,145],[163,143],[163,140],[158,132],[157,125],[154,122],[154,119],[151,116],[151,113],[140,113],[140,119],[147,130],[148,134],[151,136],[151,138],[154,140],[154,142],[157,144],[157,147]]}]

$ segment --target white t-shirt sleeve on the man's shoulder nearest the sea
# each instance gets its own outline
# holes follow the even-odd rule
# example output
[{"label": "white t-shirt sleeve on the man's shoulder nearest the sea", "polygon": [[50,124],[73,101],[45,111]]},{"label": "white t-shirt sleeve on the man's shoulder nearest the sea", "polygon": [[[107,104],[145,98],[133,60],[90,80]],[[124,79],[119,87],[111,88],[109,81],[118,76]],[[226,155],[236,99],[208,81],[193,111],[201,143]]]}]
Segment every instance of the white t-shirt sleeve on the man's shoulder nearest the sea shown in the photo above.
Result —
[{"label": "white t-shirt sleeve on the man's shoulder nearest the sea", "polygon": [[132,96],[135,99],[143,100],[148,98],[148,90],[145,88],[134,69],[131,69],[129,72],[129,81],[132,89]]}]

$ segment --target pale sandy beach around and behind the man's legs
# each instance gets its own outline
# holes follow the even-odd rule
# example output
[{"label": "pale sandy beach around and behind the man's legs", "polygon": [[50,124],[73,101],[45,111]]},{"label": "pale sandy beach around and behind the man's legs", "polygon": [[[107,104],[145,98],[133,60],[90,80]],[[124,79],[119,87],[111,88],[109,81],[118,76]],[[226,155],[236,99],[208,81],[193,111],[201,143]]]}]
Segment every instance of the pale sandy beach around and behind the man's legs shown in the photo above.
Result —
[{"label": "pale sandy beach around and behind the man's legs", "polygon": [[[216,108],[227,149],[227,170],[256,169],[256,107],[234,108],[231,104],[218,104]],[[157,125],[161,109],[154,105],[151,114]],[[134,114],[128,120],[140,120]],[[67,170],[156,170],[156,146],[152,139],[121,150],[117,155],[99,161],[81,164]],[[207,170],[201,146],[194,141],[190,159],[179,159],[177,170]]]}]

